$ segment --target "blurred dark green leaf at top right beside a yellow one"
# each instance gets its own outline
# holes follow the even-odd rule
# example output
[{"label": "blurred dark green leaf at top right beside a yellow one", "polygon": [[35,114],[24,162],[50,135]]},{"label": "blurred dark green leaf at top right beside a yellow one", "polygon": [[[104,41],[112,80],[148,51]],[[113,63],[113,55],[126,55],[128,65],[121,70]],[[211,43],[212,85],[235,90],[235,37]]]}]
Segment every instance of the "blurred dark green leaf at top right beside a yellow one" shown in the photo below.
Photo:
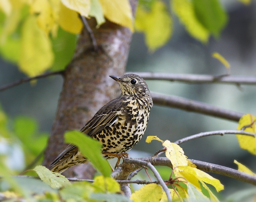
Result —
[{"label": "blurred dark green leaf at top right beside a yellow one", "polygon": [[227,24],[227,13],[218,0],[193,0],[193,5],[197,19],[215,37],[220,35],[220,31]]}]

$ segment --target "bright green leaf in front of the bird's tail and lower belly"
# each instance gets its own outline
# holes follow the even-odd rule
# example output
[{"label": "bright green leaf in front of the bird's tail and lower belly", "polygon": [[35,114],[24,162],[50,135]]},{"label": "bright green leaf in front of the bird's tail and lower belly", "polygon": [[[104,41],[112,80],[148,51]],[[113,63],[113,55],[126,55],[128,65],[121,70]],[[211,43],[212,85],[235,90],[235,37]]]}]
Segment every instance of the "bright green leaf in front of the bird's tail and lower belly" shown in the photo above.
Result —
[{"label": "bright green leaf in front of the bird's tail and lower belly", "polygon": [[65,142],[75,144],[79,151],[90,160],[92,165],[105,177],[110,176],[111,169],[108,161],[101,154],[101,144],[99,141],[84,135],[79,131],[68,131],[64,135]]}]

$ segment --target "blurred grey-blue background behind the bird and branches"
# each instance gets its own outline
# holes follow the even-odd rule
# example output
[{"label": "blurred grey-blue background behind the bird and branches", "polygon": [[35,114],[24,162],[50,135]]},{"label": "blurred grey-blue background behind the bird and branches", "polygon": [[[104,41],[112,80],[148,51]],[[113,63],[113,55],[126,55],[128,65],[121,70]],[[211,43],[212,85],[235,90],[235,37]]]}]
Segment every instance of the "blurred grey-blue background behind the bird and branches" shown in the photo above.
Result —
[{"label": "blurred grey-blue background behind the bird and branches", "polygon": [[[226,69],[212,58],[219,52],[230,63],[231,75],[256,76],[256,2],[245,6],[235,0],[223,0],[229,21],[220,39],[211,38],[202,44],[188,35],[174,17],[171,40],[154,53],[149,53],[144,36],[134,33],[127,64],[127,72],[150,71],[179,74],[226,74]],[[0,86],[26,77],[16,66],[0,60]],[[0,104],[10,118],[25,115],[35,118],[39,130],[50,133],[59,94],[61,76],[39,79],[33,85],[24,83],[0,92]],[[184,97],[240,113],[256,115],[256,86],[224,84],[186,84],[167,81],[147,81],[152,92]],[[222,120],[197,113],[154,105],[148,128],[142,140],[132,149],[130,157],[145,157],[162,149],[161,143],[145,142],[147,136],[158,136],[174,142],[180,138],[205,131],[234,130],[237,122]],[[82,126],[81,126],[82,127]],[[237,169],[234,159],[256,172],[256,158],[239,148],[235,135],[211,136],[189,141],[180,145],[189,159],[202,160]],[[212,175],[225,185],[221,195],[253,188],[252,185],[220,175]]]}]

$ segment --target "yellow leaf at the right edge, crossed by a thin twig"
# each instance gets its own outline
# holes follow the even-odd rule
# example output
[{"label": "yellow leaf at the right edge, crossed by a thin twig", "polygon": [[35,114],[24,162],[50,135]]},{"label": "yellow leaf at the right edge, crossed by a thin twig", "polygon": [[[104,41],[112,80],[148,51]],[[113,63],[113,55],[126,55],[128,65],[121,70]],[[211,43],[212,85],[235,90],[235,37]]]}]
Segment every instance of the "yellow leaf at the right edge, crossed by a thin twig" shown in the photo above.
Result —
[{"label": "yellow leaf at the right edge, crossed by a thin twig", "polygon": [[[245,114],[241,117],[238,123],[237,130],[241,130],[244,126],[251,125],[251,127],[245,128],[244,131],[255,133],[255,123],[256,120],[255,116],[252,114]],[[237,140],[239,142],[239,145],[242,149],[247,150],[251,152],[252,154],[256,154],[256,139],[252,136],[245,136],[245,135],[239,135],[236,134]]]}]

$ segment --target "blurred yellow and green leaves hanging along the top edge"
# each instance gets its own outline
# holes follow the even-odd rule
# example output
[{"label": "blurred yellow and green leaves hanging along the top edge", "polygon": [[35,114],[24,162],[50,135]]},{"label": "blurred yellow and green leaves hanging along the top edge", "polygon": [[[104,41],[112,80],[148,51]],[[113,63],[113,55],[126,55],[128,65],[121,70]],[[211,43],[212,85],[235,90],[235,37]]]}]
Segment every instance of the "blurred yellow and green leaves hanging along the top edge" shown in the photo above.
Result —
[{"label": "blurred yellow and green leaves hanging along the top edge", "polygon": [[[145,34],[151,52],[171,38],[174,14],[202,43],[207,43],[210,35],[220,36],[228,21],[220,0],[170,0],[170,5],[171,11],[162,0],[139,0],[134,27]],[[83,27],[78,13],[95,17],[97,27],[106,18],[134,30],[128,0],[4,0],[0,3],[2,56],[28,76],[63,70],[72,59],[76,35]]]}]

